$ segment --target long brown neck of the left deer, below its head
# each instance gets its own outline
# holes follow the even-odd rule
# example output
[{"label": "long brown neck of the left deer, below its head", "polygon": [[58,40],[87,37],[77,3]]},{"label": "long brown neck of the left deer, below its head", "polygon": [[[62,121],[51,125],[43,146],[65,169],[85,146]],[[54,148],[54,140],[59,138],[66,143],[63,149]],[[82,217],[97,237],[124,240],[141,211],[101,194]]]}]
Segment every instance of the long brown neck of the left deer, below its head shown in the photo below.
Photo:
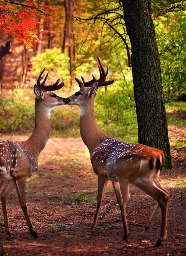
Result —
[{"label": "long brown neck of the left deer, below its head", "polygon": [[33,157],[38,160],[40,152],[44,149],[50,132],[50,109],[43,106],[42,101],[36,99],[35,101],[35,128],[31,137],[23,141]]}]

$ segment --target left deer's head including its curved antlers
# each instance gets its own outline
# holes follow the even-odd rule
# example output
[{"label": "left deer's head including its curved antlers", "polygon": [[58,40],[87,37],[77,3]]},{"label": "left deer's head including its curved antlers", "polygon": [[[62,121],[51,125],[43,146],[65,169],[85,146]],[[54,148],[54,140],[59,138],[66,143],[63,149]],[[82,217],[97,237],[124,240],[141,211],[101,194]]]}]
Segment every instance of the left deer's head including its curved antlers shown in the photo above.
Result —
[{"label": "left deer's head including its curved antlers", "polygon": [[61,89],[64,86],[64,82],[59,84],[60,79],[58,79],[56,83],[52,85],[45,85],[45,82],[48,77],[48,73],[47,73],[47,75],[44,77],[43,82],[41,83],[41,79],[43,78],[42,75],[44,71],[45,71],[45,68],[43,68],[39,74],[37,83],[34,85],[34,93],[36,95],[36,101],[37,102],[39,101],[41,104],[45,105],[48,109],[51,110],[53,107],[65,104],[64,98],[59,97],[52,92],[52,91]]}]

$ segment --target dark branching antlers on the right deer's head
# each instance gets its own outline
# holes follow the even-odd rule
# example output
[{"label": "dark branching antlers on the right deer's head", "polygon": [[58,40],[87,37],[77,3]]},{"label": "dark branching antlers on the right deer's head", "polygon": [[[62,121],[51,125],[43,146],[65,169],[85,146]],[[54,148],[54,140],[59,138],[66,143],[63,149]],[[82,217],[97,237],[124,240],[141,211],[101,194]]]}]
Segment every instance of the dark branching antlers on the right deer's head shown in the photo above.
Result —
[{"label": "dark branching antlers on the right deer's head", "polygon": [[106,76],[108,75],[108,72],[109,72],[109,68],[108,67],[104,67],[104,65],[102,64],[101,60],[99,57],[97,57],[98,59],[98,68],[99,68],[99,71],[100,71],[100,78],[97,80],[96,79],[96,76],[92,75],[93,76],[93,79],[88,81],[88,82],[85,82],[84,78],[81,76],[81,79],[84,83],[84,86],[85,87],[91,87],[92,84],[94,82],[98,82],[98,86],[101,87],[101,86],[106,86],[106,85],[110,85],[114,82],[114,80],[109,80],[109,81],[105,81],[106,80]]}]

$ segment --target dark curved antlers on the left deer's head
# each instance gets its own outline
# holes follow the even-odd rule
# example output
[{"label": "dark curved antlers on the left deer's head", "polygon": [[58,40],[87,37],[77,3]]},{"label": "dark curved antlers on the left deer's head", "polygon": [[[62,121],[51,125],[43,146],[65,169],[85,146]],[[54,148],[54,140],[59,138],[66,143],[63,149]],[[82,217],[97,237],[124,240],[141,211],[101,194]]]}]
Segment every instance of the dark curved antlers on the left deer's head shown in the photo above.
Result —
[{"label": "dark curved antlers on the left deer's head", "polygon": [[47,73],[47,75],[45,76],[43,82],[40,83],[41,79],[43,78],[42,75],[43,75],[44,71],[45,71],[45,68],[43,68],[43,69],[41,70],[41,72],[40,72],[40,74],[39,74],[39,76],[38,76],[38,79],[37,79],[37,87],[39,87],[41,91],[49,91],[49,92],[51,92],[51,91],[56,91],[56,90],[58,90],[58,89],[61,89],[61,88],[64,86],[64,84],[65,84],[64,82],[62,82],[61,84],[59,84],[59,81],[60,81],[59,78],[57,79],[56,83],[51,84],[51,85],[45,85],[45,82],[46,82],[47,77],[48,77],[48,73]]}]

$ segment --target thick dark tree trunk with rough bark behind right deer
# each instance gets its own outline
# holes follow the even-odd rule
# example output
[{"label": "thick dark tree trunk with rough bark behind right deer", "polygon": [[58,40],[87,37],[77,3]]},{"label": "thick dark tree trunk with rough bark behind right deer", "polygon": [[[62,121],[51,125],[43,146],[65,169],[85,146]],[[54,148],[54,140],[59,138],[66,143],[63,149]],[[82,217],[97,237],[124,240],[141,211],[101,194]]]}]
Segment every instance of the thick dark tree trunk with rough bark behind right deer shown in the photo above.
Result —
[{"label": "thick dark tree trunk with rough bark behind right deer", "polygon": [[124,20],[132,47],[134,98],[139,143],[161,149],[171,168],[160,60],[150,0],[123,0]]}]

